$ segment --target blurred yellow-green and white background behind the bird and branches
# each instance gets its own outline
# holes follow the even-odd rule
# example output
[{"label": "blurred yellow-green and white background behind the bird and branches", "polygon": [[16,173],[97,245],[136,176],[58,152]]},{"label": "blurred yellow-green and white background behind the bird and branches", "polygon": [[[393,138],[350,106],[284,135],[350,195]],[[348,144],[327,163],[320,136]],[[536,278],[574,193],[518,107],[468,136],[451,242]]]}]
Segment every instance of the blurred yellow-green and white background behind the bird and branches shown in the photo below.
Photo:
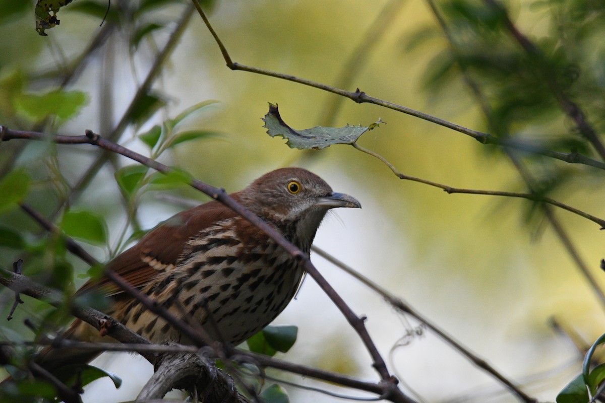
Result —
[{"label": "blurred yellow-green and white background behind the bird and branches", "polygon": [[[496,40],[490,36],[496,36],[495,33],[481,33],[489,27],[477,24],[480,28],[476,28],[472,19],[467,25],[462,24],[462,17],[468,13],[471,16],[475,13],[477,20],[484,18],[481,13],[485,12],[485,3],[447,3],[437,5],[451,24],[454,36],[462,41],[463,47],[468,46],[465,52],[483,54],[486,59],[494,55],[502,57],[503,71],[490,71],[493,60],[471,66],[474,67],[471,73],[497,112],[506,109],[502,106],[506,102],[507,108],[517,107],[514,113],[499,115],[509,125],[494,134],[541,141],[545,146],[554,144],[553,147],[560,147],[563,139],[581,143],[573,124],[554,100],[544,107],[545,112],[537,111],[536,105],[523,104],[526,98],[548,99],[552,94],[523,86],[523,77],[519,78],[522,74],[512,74],[514,66],[522,63],[511,62],[514,59],[511,54],[518,56],[523,52],[515,48],[502,26],[496,24],[494,28],[494,32],[499,32]],[[122,21],[122,27],[91,56],[68,86],[87,93],[87,106],[76,117],[56,121],[54,126],[45,126],[44,131],[73,135],[83,134],[84,129],[102,135],[111,131],[185,4],[159,2],[145,15],[134,16],[129,23]],[[48,30],[48,37],[38,36],[34,31],[33,4],[0,19],[0,37],[4,38],[0,41],[3,54],[0,73],[4,83],[4,95],[0,97],[4,100],[0,105],[10,104],[6,82],[11,74],[19,72],[26,77],[24,91],[48,91],[56,85],[53,74],[60,73],[96,35],[99,18],[76,10],[76,5],[74,2],[60,10],[61,24]],[[594,100],[602,98],[605,81],[600,63],[603,45],[598,37],[605,24],[594,19],[600,16],[605,21],[600,9],[603,6],[582,1],[510,1],[505,5],[517,27],[543,47],[548,57],[560,56],[562,52],[564,56],[560,57],[565,62],[561,65],[578,72],[580,78],[575,81],[578,84],[567,88],[567,94],[580,98],[584,102],[581,106],[588,112],[598,109]],[[136,7],[130,4],[127,8]],[[215,1],[204,7],[209,8],[210,21],[234,61],[327,85],[340,85],[345,74],[354,68],[354,76],[344,89],[359,88],[371,96],[461,126],[491,130],[476,98],[464,85],[460,69],[448,65],[448,41],[427,2],[258,0]],[[592,10],[592,14],[574,10]],[[583,30],[581,40],[565,31],[568,20],[573,22],[574,18],[577,31]],[[132,26],[128,24],[140,26],[144,21],[161,21],[165,27],[144,37],[135,49],[130,45]],[[358,47],[371,35],[373,40],[359,51]],[[571,37],[577,43],[570,48]],[[485,48],[471,46],[481,39]],[[494,40],[491,48],[490,40]],[[360,55],[361,59],[348,64],[353,56]],[[507,68],[511,73],[508,78]],[[539,74],[526,79],[541,80]],[[160,161],[229,191],[239,190],[277,167],[302,166],[312,170],[336,191],[358,198],[363,206],[362,210],[330,214],[319,230],[316,245],[403,298],[541,401],[554,401],[557,392],[580,373],[582,349],[603,333],[604,307],[539,206],[499,196],[448,195],[427,185],[401,181],[381,161],[350,146],[332,146],[321,151],[293,150],[281,138],[266,134],[261,117],[267,113],[270,102],[279,104],[284,120],[296,129],[319,124],[367,125],[381,118],[387,124],[365,134],[359,144],[383,156],[401,172],[454,187],[526,192],[522,178],[500,147],[486,146],[459,132],[368,103],[342,100],[336,112],[329,114],[334,103],[339,102],[337,95],[226,68],[211,34],[197,15],[192,17],[174,54],[163,65],[153,88],[162,94],[165,106],[140,127],[129,127],[120,143],[148,153],[136,134],[175,117],[195,103],[217,100],[186,122],[188,128],[214,134],[175,146]],[[503,94],[511,99],[506,100]],[[581,98],[582,95],[586,98]],[[14,129],[32,127],[28,126],[31,121],[28,117],[9,116],[7,111],[8,106],[2,117],[8,121],[0,124],[13,124]],[[598,114],[589,115],[591,118],[599,129],[603,119]],[[18,123],[23,125],[15,127]],[[47,215],[67,192],[65,184],[73,185],[99,154],[99,150],[90,146],[58,146],[56,156],[49,156],[46,144],[44,147],[27,144],[24,150],[18,150],[21,146],[15,143],[0,144],[0,162],[7,166],[13,153],[18,152],[11,164],[25,167],[35,178],[25,200]],[[569,151],[568,148],[566,152]],[[592,150],[587,147],[586,153],[592,155]],[[603,216],[600,170],[547,158],[526,155],[520,158],[538,178],[557,184],[549,189],[548,196]],[[126,203],[120,201],[114,170],[128,164],[131,163],[124,158],[115,158],[73,201],[72,208],[94,210],[107,222],[108,245],[87,246],[100,260],[110,257],[126,225]],[[166,193],[181,199],[207,199],[182,188],[146,192],[137,201],[136,216],[141,228],[151,228],[183,208],[178,202],[166,200]],[[46,236],[18,208],[4,209],[2,214],[2,225],[26,231],[29,242],[38,242]],[[605,234],[594,222],[574,214],[557,210],[555,215],[581,259],[603,286],[599,263],[605,254]],[[11,248],[2,251],[1,262],[5,267],[22,253]],[[417,399],[517,401],[493,378],[419,327],[419,323],[397,313],[366,286],[321,257],[312,259],[353,310],[367,316],[368,330],[390,370]],[[71,263],[76,275],[87,269],[75,259]],[[26,260],[25,274],[39,276],[43,271],[44,266],[31,268]],[[80,276],[74,281],[77,286],[85,279]],[[0,295],[5,317],[12,294]],[[40,312],[45,312],[42,303],[28,298],[18,308],[15,320],[2,321],[0,332],[6,338],[14,332],[27,339],[31,332],[22,326],[22,320],[39,318]],[[552,326],[553,319],[564,331]],[[276,323],[299,326],[298,341],[280,358],[362,379],[378,379],[361,341],[312,279],[305,280],[296,299]],[[413,336],[409,336],[410,332]],[[146,361],[128,354],[106,354],[96,364],[123,376],[124,385],[114,390],[109,381],[97,381],[87,388],[83,395],[85,402],[134,399],[152,373]],[[272,374],[305,385],[318,385],[309,379]],[[320,386],[347,396],[362,395]],[[284,387],[293,402],[338,400]]]}]

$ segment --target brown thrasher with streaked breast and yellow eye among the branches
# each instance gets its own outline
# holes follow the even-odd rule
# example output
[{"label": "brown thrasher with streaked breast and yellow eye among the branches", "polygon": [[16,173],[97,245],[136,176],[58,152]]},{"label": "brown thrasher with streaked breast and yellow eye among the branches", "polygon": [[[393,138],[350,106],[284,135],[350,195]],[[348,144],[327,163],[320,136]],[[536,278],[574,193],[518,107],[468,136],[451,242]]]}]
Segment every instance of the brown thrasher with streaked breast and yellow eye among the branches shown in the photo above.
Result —
[{"label": "brown thrasher with streaked breast and yellow eye among the branches", "polygon": [[[319,176],[299,168],[269,172],[231,197],[307,255],[330,208],[361,207],[355,198],[333,193]],[[292,256],[262,230],[217,201],[172,216],[108,268],[177,317],[182,318],[184,310],[215,340],[232,344],[246,340],[280,314],[303,274]],[[113,297],[108,315],[150,341],[189,343],[110,280],[88,282],[77,294],[93,290]],[[100,340],[99,330],[80,320],[63,337]],[[97,354],[47,349],[37,361],[53,369],[88,362]]]}]

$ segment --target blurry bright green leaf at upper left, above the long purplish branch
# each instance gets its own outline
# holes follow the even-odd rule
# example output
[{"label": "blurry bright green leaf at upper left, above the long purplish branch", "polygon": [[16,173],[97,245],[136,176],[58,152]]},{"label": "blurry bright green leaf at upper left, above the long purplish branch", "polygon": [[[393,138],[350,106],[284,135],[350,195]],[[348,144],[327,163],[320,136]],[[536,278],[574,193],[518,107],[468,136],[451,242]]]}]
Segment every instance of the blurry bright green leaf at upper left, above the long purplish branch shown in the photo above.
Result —
[{"label": "blurry bright green leaf at upper left, above the long purplish branch", "polygon": [[13,103],[18,111],[34,120],[56,116],[60,120],[74,117],[88,102],[85,92],[56,89],[46,94],[19,94]]}]

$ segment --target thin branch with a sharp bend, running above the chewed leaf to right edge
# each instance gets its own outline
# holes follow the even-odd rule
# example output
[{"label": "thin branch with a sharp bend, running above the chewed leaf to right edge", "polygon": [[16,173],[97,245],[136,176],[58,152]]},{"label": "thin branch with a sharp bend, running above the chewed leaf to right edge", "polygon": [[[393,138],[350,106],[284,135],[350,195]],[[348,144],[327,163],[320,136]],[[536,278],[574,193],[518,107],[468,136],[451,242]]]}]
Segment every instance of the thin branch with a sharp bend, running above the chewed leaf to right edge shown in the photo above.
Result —
[{"label": "thin branch with a sharp bend, running above the chewed leaf to right edge", "polygon": [[448,129],[452,129],[454,131],[473,137],[475,140],[479,141],[479,143],[482,144],[494,144],[497,146],[520,150],[531,154],[548,156],[550,158],[555,158],[557,160],[564,161],[570,164],[584,164],[587,166],[605,170],[605,163],[593,160],[592,158],[589,158],[585,155],[581,155],[575,152],[556,152],[549,149],[545,149],[544,147],[535,146],[534,144],[523,143],[520,141],[502,140],[500,138],[492,136],[491,134],[468,129],[467,127],[460,126],[456,123],[451,123],[450,121],[434,117],[433,115],[425,114],[424,112],[416,111],[415,109],[407,108],[402,105],[397,105],[393,102],[387,102],[380,98],[371,97],[365,92],[360,91],[359,88],[356,91],[345,91],[344,89],[325,85],[312,80],[301,79],[299,77],[290,76],[289,74],[276,73],[275,71],[260,69],[252,66],[242,65],[237,62],[232,62],[231,57],[227,52],[227,49],[224,47],[222,42],[220,42],[218,35],[215,33],[214,29],[212,28],[212,25],[210,25],[208,18],[206,18],[206,15],[204,15],[203,10],[201,10],[201,7],[199,6],[197,0],[192,1],[194,2],[195,7],[197,8],[197,11],[200,14],[201,18],[204,20],[206,27],[208,27],[208,30],[211,31],[212,36],[215,38],[215,40],[217,40],[217,44],[220,47],[225,62],[227,63],[227,67],[232,70],[247,71],[249,73],[261,74],[263,76],[275,77],[277,79],[292,81],[302,85],[321,89],[323,91],[332,92],[333,94],[341,95],[342,97],[349,98],[350,100],[353,100],[356,103],[372,103],[374,105],[383,106],[384,108],[393,109],[393,111],[402,112],[404,114],[411,115],[422,120],[430,121],[431,123],[439,124],[439,126],[448,127]]}]

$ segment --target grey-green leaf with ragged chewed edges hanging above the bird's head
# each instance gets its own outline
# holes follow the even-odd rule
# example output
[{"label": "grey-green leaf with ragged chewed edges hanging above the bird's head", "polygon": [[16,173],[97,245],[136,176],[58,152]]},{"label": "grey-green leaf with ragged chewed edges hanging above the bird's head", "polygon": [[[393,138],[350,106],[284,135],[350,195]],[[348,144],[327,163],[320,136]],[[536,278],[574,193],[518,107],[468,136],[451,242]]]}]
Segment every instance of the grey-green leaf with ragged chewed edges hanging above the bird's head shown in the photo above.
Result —
[{"label": "grey-green leaf with ragged chewed edges hanging above the bird's head", "polygon": [[347,126],[344,127],[325,127],[315,126],[311,129],[295,130],[288,126],[280,116],[277,105],[269,104],[269,112],[263,118],[267,134],[271,137],[281,136],[285,138],[286,144],[290,148],[299,150],[321,150],[332,144],[353,144],[357,139],[368,130],[375,129],[379,124],[384,123],[380,119],[369,126]]}]

